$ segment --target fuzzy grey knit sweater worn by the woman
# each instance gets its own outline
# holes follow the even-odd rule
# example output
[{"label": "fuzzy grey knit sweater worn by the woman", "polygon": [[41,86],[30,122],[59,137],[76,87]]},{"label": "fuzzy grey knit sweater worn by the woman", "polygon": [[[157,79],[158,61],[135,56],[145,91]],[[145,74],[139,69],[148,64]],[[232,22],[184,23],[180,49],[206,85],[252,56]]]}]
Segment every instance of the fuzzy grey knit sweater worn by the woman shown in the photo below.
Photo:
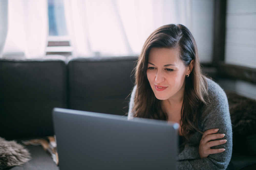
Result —
[{"label": "fuzzy grey knit sweater worn by the woman", "polygon": [[[232,154],[232,127],[227,96],[223,89],[214,81],[207,78],[207,83],[210,104],[202,107],[200,110],[202,114],[199,120],[199,127],[203,131],[219,128],[217,133],[224,133],[225,137],[221,139],[227,139],[227,142],[211,147],[211,149],[225,148],[226,150],[222,153],[210,154],[207,158],[201,159],[198,146],[202,135],[196,132],[189,138],[188,143],[179,150],[177,157],[178,169],[226,169],[229,164]],[[135,89],[133,88],[131,94],[128,119],[133,117],[131,110],[134,106]]]}]

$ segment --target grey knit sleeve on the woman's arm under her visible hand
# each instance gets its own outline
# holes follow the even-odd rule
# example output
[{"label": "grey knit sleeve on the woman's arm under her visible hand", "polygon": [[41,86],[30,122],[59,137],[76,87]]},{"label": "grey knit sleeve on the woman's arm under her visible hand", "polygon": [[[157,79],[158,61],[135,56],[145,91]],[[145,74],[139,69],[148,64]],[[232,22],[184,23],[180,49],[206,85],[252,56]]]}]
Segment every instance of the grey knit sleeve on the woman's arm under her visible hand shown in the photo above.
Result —
[{"label": "grey knit sleeve on the woman's arm under her visible hand", "polygon": [[[216,139],[227,139],[227,142],[211,147],[211,149],[219,149],[225,148],[226,150],[221,153],[210,154],[206,158],[200,159],[200,155],[198,153],[198,146],[187,146],[184,148],[183,155],[181,156],[183,159],[178,159],[178,169],[226,169],[229,161],[231,159],[232,154],[232,127],[230,120],[230,113],[228,107],[228,100],[225,92],[217,87],[217,91],[215,91],[215,97],[211,100],[212,102],[206,107],[204,112],[205,115],[202,118],[202,128],[203,132],[212,129],[219,128],[217,133],[225,134],[225,137]],[[202,135],[200,134],[200,140]],[[191,157],[191,152],[195,152]],[[186,153],[188,153],[186,155]]]}]

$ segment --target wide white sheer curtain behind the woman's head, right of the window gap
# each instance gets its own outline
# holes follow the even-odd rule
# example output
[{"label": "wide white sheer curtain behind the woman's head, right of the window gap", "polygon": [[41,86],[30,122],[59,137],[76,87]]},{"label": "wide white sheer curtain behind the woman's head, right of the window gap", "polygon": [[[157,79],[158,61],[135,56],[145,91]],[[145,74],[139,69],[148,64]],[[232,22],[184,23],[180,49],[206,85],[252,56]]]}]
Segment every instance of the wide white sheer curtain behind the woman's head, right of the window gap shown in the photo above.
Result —
[{"label": "wide white sheer curtain behind the woman's head, right of the window gap", "polygon": [[64,0],[64,8],[75,56],[137,55],[162,25],[192,29],[191,0]]}]

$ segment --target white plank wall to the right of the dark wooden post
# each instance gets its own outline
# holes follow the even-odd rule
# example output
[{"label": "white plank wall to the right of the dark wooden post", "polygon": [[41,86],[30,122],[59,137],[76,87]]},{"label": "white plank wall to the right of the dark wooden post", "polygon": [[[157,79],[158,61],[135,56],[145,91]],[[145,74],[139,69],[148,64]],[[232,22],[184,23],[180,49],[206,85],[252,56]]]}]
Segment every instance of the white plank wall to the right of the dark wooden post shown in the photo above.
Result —
[{"label": "white plank wall to the right of the dark wooden post", "polygon": [[256,1],[228,0],[225,62],[256,68]]}]

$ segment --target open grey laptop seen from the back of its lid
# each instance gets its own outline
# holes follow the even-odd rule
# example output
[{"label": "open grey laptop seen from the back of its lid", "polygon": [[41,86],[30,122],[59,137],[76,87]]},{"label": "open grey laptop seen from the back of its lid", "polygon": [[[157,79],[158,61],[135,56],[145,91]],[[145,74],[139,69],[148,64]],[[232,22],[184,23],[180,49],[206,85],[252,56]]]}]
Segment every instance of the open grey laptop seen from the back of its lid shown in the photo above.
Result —
[{"label": "open grey laptop seen from the back of its lid", "polygon": [[177,123],[54,108],[60,170],[176,169]]}]

